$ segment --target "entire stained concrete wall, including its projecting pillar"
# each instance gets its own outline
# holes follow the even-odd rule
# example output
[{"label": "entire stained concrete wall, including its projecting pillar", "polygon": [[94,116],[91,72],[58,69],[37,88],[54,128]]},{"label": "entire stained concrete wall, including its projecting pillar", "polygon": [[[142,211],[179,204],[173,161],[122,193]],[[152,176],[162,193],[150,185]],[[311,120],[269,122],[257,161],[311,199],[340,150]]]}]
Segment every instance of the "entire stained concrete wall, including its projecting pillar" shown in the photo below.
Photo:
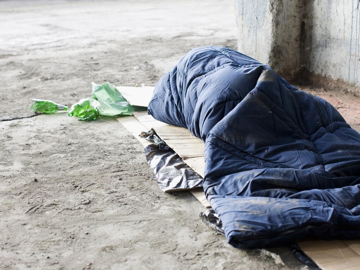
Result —
[{"label": "entire stained concrete wall, including its projecting pillar", "polygon": [[235,0],[238,50],[288,79],[360,86],[360,0]]}]

